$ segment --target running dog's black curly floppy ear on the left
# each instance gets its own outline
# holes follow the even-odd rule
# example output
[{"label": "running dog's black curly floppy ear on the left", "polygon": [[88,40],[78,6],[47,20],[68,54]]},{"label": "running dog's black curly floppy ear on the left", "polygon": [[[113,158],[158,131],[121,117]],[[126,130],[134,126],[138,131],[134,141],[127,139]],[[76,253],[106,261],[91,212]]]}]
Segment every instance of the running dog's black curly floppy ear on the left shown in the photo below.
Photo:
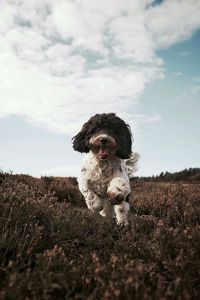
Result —
[{"label": "running dog's black curly floppy ear on the left", "polygon": [[75,151],[78,151],[81,153],[89,152],[89,148],[87,146],[87,131],[88,131],[87,129],[88,129],[88,126],[87,126],[87,123],[85,123],[83,125],[83,128],[81,129],[81,131],[72,138],[73,148]]}]

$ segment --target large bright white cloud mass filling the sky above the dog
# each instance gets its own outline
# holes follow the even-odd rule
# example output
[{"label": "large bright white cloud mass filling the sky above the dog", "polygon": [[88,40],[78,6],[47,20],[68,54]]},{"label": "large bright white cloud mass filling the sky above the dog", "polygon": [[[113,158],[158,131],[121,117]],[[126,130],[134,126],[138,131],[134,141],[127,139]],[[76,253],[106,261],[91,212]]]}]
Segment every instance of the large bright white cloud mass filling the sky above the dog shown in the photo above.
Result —
[{"label": "large bright white cloud mass filling the sky above the dog", "polygon": [[97,112],[129,116],[163,78],[161,47],[200,28],[199,1],[9,1],[0,10],[0,117],[59,133]]}]

